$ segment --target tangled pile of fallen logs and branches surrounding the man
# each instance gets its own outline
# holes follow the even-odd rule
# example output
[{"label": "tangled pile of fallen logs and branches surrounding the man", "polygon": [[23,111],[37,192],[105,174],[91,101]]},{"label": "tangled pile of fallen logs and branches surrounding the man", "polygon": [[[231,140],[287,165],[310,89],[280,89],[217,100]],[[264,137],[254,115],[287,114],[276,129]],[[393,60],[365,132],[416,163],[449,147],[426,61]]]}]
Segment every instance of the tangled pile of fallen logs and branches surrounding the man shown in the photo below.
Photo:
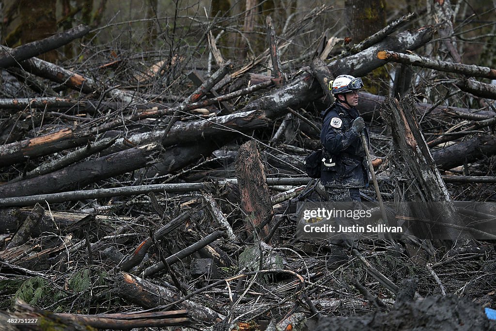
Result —
[{"label": "tangled pile of fallen logs and branches surrounding the man", "polygon": [[[267,330],[296,330],[322,316],[378,311],[387,320],[414,310],[414,299],[454,293],[477,305],[448,295],[446,309],[468,307],[474,313],[466,318],[488,327],[482,308],[476,312],[494,300],[491,244],[472,241],[470,248],[447,254],[451,247],[416,242],[427,255],[414,259],[414,250],[388,241],[364,241],[347,250],[295,236],[295,199],[310,187],[303,158],[319,146],[318,114],[332,101],[327,89],[332,77],[365,76],[393,60],[446,68],[427,59],[405,60],[406,50],[424,46],[434,33],[422,27],[392,35],[410,17],[334,57],[329,56],[334,43],[323,42],[307,66],[292,72],[281,66],[281,44],[270,19],[270,47],[245,66],[225,61],[210,38],[217,70],[208,76],[188,72],[184,97],[104,86],[35,58],[88,33],[85,26],[4,48],[0,67],[9,68],[3,74],[12,86],[22,79],[38,93],[48,91],[39,88],[42,78],[79,96],[0,100],[2,308],[16,310],[0,319],[36,319],[43,323],[38,327],[73,330],[87,325],[256,330],[270,321]],[[272,75],[263,75],[258,66],[269,59]],[[139,79],[145,83],[161,70],[150,66]],[[446,70],[494,74],[461,64]],[[457,83],[493,97],[486,85],[467,78]],[[494,169],[485,164],[496,151],[488,134],[494,113],[408,100],[424,133],[413,136],[432,149],[432,155],[425,148],[421,156],[449,170],[445,182],[475,185],[481,188],[477,197],[494,199],[494,192],[484,191],[487,184],[473,184],[495,181]],[[377,116],[388,103],[368,93],[360,99],[373,131],[375,163],[384,174],[381,189],[392,199],[405,192],[393,183],[397,174],[391,168],[398,164],[387,162],[396,155],[389,149],[397,153],[401,146],[399,129]],[[468,164],[476,162],[480,169],[471,175],[479,176],[453,176],[467,175]],[[435,166],[428,168],[434,177],[439,174]],[[449,199],[444,183],[436,183],[435,188],[421,183],[422,193],[410,194]],[[373,199],[372,190],[363,194]],[[455,268],[464,272],[453,273]],[[453,315],[458,324],[473,322]],[[333,325],[325,319],[315,323]]]}]

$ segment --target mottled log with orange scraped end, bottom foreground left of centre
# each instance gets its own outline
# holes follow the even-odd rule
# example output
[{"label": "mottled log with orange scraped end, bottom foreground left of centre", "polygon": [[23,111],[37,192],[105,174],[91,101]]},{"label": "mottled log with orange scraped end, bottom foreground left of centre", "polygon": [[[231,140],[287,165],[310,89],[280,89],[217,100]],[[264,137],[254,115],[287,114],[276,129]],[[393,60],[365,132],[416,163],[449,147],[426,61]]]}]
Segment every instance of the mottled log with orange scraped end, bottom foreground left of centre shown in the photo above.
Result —
[{"label": "mottled log with orange scraped end, bottom foreground left of centre", "polygon": [[[118,273],[114,280],[116,283],[114,293],[145,309],[155,308],[181,299],[176,293],[163,286],[152,284],[125,272]],[[203,323],[214,324],[224,319],[224,316],[191,300],[185,300],[178,306],[181,309],[187,309],[191,317]]]}]

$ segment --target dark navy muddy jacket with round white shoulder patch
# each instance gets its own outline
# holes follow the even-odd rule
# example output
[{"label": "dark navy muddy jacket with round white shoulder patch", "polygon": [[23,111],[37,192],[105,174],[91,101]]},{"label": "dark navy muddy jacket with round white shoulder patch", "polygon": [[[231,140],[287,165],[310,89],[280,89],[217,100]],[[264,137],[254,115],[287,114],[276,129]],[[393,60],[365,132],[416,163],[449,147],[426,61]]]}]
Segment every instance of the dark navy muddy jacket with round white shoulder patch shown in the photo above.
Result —
[{"label": "dark navy muddy jacket with round white shoulder patch", "polygon": [[[346,109],[334,103],[322,112],[324,116],[320,140],[324,147],[325,161],[320,182],[334,188],[362,188],[369,183],[366,153],[360,134],[351,127],[360,116],[353,107]],[[367,144],[369,132],[364,131]]]}]

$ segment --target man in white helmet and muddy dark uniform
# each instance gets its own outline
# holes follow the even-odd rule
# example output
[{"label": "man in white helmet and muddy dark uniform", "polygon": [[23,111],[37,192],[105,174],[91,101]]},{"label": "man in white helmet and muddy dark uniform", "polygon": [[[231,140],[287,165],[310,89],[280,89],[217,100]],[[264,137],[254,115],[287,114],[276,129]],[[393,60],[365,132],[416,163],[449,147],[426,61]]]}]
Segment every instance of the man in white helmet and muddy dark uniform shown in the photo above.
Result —
[{"label": "man in white helmet and muddy dark uniform", "polygon": [[366,153],[360,134],[369,132],[356,108],[361,78],[339,75],[331,85],[336,101],[322,112],[320,140],[324,147],[320,183],[329,201],[361,201],[360,188],[369,182]]}]

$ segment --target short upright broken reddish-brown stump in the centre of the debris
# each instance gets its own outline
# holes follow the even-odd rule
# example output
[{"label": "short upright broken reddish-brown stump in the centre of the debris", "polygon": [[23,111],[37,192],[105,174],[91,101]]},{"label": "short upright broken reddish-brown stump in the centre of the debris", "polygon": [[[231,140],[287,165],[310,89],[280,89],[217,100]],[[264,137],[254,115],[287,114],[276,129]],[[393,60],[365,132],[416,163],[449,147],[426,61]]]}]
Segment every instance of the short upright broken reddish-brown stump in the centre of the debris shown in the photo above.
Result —
[{"label": "short upright broken reddish-brown stump in the centre of the debris", "polygon": [[[260,153],[254,140],[250,140],[240,146],[240,152],[236,159],[236,175],[238,186],[241,192],[243,210],[248,214],[246,226],[252,231],[260,230],[260,237],[263,240],[271,228],[270,219],[274,216],[272,201],[267,188],[265,171],[260,161]],[[262,227],[262,224],[268,224]]]}]

